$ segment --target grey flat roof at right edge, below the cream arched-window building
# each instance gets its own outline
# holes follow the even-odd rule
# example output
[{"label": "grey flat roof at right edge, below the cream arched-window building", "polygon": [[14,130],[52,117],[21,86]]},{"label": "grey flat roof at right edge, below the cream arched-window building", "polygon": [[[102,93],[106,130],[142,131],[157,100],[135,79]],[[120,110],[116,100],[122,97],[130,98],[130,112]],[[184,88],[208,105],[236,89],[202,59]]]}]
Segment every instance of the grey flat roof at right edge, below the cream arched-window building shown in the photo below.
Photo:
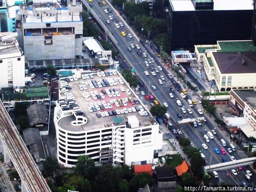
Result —
[{"label": "grey flat roof at right edge, below the cream arched-window building", "polygon": [[256,110],[256,92],[254,90],[233,90],[244,102]]}]

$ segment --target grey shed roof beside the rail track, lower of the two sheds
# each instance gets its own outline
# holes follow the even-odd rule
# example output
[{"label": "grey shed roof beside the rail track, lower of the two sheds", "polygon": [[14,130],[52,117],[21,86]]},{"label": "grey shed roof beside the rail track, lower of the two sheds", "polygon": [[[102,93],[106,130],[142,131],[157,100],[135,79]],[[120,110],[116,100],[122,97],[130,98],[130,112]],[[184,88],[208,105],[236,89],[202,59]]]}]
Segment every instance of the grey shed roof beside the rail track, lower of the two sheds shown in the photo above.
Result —
[{"label": "grey shed roof beside the rail track, lower of the two sheds", "polygon": [[28,146],[32,156],[36,158],[46,159],[44,146],[38,128],[27,128],[22,130],[24,142]]}]

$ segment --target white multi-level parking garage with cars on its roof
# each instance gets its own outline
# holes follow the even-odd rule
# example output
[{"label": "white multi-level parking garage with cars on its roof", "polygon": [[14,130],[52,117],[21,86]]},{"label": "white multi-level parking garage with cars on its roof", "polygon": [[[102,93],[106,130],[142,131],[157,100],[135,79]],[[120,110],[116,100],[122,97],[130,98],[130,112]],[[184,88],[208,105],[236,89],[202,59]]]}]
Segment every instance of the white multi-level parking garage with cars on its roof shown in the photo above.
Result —
[{"label": "white multi-level parking garage with cars on its roof", "polygon": [[[158,161],[159,124],[126,80],[113,71],[106,73],[109,76],[95,72],[87,79],[67,82],[69,91],[60,89],[54,123],[58,161],[64,166],[74,166],[81,154],[95,162],[128,166]],[[62,87],[64,82],[60,79]]]}]

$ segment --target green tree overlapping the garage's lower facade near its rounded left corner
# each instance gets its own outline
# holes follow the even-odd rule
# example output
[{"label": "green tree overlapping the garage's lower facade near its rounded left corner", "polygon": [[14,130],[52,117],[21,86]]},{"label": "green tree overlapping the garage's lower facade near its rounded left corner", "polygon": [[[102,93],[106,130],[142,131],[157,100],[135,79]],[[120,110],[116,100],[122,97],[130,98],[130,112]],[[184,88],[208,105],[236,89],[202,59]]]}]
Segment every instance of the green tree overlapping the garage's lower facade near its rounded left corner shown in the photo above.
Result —
[{"label": "green tree overlapping the garage's lower facade near its rounded left corner", "polygon": [[74,167],[76,174],[83,176],[84,178],[94,178],[94,161],[87,155],[81,155],[77,158],[77,162]]}]

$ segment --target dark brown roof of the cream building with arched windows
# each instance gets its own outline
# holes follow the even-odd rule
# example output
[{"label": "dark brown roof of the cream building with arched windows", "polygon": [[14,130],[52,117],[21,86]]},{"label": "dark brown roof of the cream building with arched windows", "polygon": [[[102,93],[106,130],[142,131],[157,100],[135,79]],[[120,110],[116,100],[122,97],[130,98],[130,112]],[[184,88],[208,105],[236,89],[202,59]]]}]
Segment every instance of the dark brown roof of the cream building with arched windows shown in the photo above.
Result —
[{"label": "dark brown roof of the cream building with arched windows", "polygon": [[212,54],[222,74],[256,73],[256,51]]}]

